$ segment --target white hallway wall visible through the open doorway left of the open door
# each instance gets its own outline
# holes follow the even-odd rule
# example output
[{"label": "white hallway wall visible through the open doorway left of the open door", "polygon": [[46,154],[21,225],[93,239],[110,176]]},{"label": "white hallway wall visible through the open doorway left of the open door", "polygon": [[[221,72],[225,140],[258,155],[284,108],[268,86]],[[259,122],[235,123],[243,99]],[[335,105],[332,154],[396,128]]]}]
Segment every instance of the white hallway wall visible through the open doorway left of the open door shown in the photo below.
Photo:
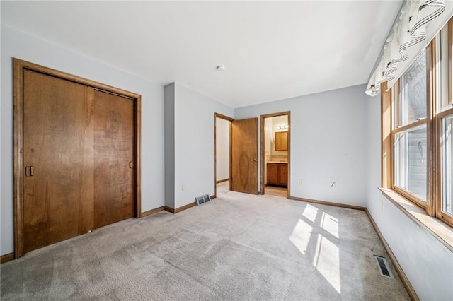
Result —
[{"label": "white hallway wall visible through the open doorway left of the open door", "polygon": [[229,124],[228,120],[216,118],[217,181],[229,179]]}]

